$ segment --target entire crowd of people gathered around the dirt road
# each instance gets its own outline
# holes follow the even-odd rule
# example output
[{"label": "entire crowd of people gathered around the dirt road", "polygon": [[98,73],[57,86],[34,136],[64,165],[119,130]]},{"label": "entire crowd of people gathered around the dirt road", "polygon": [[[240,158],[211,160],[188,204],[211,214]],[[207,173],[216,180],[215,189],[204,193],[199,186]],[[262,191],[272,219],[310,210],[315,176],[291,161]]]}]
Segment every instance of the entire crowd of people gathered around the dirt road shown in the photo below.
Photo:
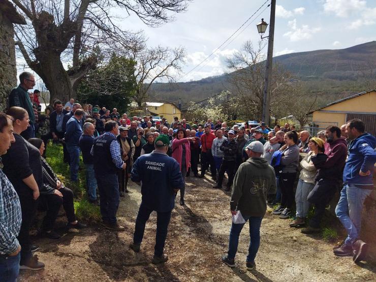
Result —
[{"label": "entire crowd of people gathered around the dirt road", "polygon": [[[29,237],[37,210],[46,211],[41,236],[60,238],[54,230],[60,206],[66,212],[68,229],[86,227],[75,216],[72,190],[45,160],[50,140],[62,144],[62,161],[69,164],[71,181],[79,181],[82,154],[87,198],[100,205],[107,229],[124,231],[116,218],[119,197],[129,192],[130,178],[141,185],[131,248],[139,252],[145,224],[156,211],[153,263],[168,259],[164,244],[171,211],[179,191],[179,204],[185,205],[186,177],[204,178],[207,172],[217,190],[222,189],[227,174],[225,191],[231,191],[233,223],[222,261],[230,267],[235,266],[239,234],[249,220],[246,266],[255,268],[267,204],[278,205],[273,215],[295,218],[290,227],[305,227],[301,229],[304,234],[318,233],[325,208],[336,193],[340,197],[335,213],[348,237],[333,252],[353,256],[355,262],[364,259],[367,245],[360,240],[361,212],[373,190],[376,138],[364,131],[361,120],[310,136],[305,130],[298,133],[289,123],[283,128],[269,128],[262,121],[257,127],[248,123],[229,127],[219,119],[216,124],[211,119],[190,124],[178,117],[171,123],[152,116],[130,119],[116,108],[111,112],[99,105],[81,106],[73,98],[64,106],[55,100],[53,108],[47,107],[41,115],[38,96],[28,93],[35,85],[34,76],[22,73],[20,82],[10,93],[6,113],[0,113],[1,280],[14,281],[19,269],[44,268],[34,255],[39,247]],[[37,121],[37,116],[43,116],[45,123]],[[41,130],[46,124],[48,130]],[[308,222],[311,206],[314,215]]]}]

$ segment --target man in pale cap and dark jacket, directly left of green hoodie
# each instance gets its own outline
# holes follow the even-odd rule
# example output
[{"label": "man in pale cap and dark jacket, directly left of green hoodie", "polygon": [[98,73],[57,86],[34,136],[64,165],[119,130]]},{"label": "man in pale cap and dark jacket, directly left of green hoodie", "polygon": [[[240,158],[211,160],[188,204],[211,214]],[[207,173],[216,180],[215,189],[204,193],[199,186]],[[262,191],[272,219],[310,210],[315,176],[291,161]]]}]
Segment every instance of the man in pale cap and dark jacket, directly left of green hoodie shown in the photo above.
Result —
[{"label": "man in pale cap and dark jacket, directly left of green hoodie", "polygon": [[220,146],[220,150],[223,151],[223,161],[221,164],[220,171],[218,172],[217,184],[214,185],[213,188],[222,189],[222,181],[225,176],[225,172],[227,172],[229,180],[227,182],[226,191],[230,191],[231,189],[231,185],[234,180],[234,169],[238,149],[237,144],[234,140],[234,136],[235,132],[233,130],[230,130],[228,134],[228,139],[223,141],[222,145]]}]

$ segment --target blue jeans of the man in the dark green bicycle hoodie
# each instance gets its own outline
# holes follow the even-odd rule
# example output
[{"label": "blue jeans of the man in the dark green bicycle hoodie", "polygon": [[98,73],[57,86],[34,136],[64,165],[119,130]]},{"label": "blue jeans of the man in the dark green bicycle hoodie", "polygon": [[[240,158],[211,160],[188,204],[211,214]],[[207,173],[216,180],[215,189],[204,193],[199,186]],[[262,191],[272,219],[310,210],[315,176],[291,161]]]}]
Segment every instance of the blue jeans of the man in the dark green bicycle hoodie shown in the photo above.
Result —
[{"label": "blue jeans of the man in the dark green bicycle hoodie", "polygon": [[[256,217],[256,216],[243,216],[245,223],[249,220],[249,248],[248,248],[248,255],[247,255],[247,262],[254,262],[257,251],[260,247],[260,227],[261,221],[263,216]],[[244,224],[234,224],[232,223],[230,229],[230,238],[229,238],[229,251],[228,257],[229,259],[235,259],[236,252],[238,250],[238,243],[239,243],[239,235],[241,230],[243,229]]]}]

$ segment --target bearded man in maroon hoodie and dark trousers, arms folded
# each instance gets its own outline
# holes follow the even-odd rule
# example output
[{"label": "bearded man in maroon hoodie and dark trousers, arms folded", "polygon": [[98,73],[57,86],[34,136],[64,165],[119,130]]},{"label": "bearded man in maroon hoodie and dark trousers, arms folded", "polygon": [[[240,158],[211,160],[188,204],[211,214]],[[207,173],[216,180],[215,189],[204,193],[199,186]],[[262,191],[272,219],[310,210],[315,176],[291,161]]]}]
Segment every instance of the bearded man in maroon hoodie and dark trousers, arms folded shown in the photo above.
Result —
[{"label": "bearded man in maroon hoodie and dark trousers, arms folded", "polygon": [[326,161],[323,164],[317,164],[317,159],[321,154],[311,158],[319,171],[316,176],[316,184],[307,197],[308,202],[315,205],[315,214],[309,221],[309,226],[301,230],[304,234],[321,232],[320,224],[325,207],[334,194],[339,191],[342,184],[342,171],[347,156],[346,140],[341,138],[341,130],[335,126],[326,129],[325,137],[329,143],[328,146],[325,146]]}]

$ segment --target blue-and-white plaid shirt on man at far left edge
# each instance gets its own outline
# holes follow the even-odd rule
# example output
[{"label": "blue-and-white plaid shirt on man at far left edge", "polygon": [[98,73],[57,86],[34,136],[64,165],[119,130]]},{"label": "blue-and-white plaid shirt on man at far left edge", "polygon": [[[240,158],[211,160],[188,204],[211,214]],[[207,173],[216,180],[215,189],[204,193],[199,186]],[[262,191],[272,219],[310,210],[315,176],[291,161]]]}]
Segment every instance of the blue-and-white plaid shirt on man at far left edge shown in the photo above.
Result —
[{"label": "blue-and-white plaid shirt on man at far left edge", "polygon": [[20,231],[21,221],[18,195],[8,177],[0,169],[0,254],[12,254],[18,248],[16,237]]}]

